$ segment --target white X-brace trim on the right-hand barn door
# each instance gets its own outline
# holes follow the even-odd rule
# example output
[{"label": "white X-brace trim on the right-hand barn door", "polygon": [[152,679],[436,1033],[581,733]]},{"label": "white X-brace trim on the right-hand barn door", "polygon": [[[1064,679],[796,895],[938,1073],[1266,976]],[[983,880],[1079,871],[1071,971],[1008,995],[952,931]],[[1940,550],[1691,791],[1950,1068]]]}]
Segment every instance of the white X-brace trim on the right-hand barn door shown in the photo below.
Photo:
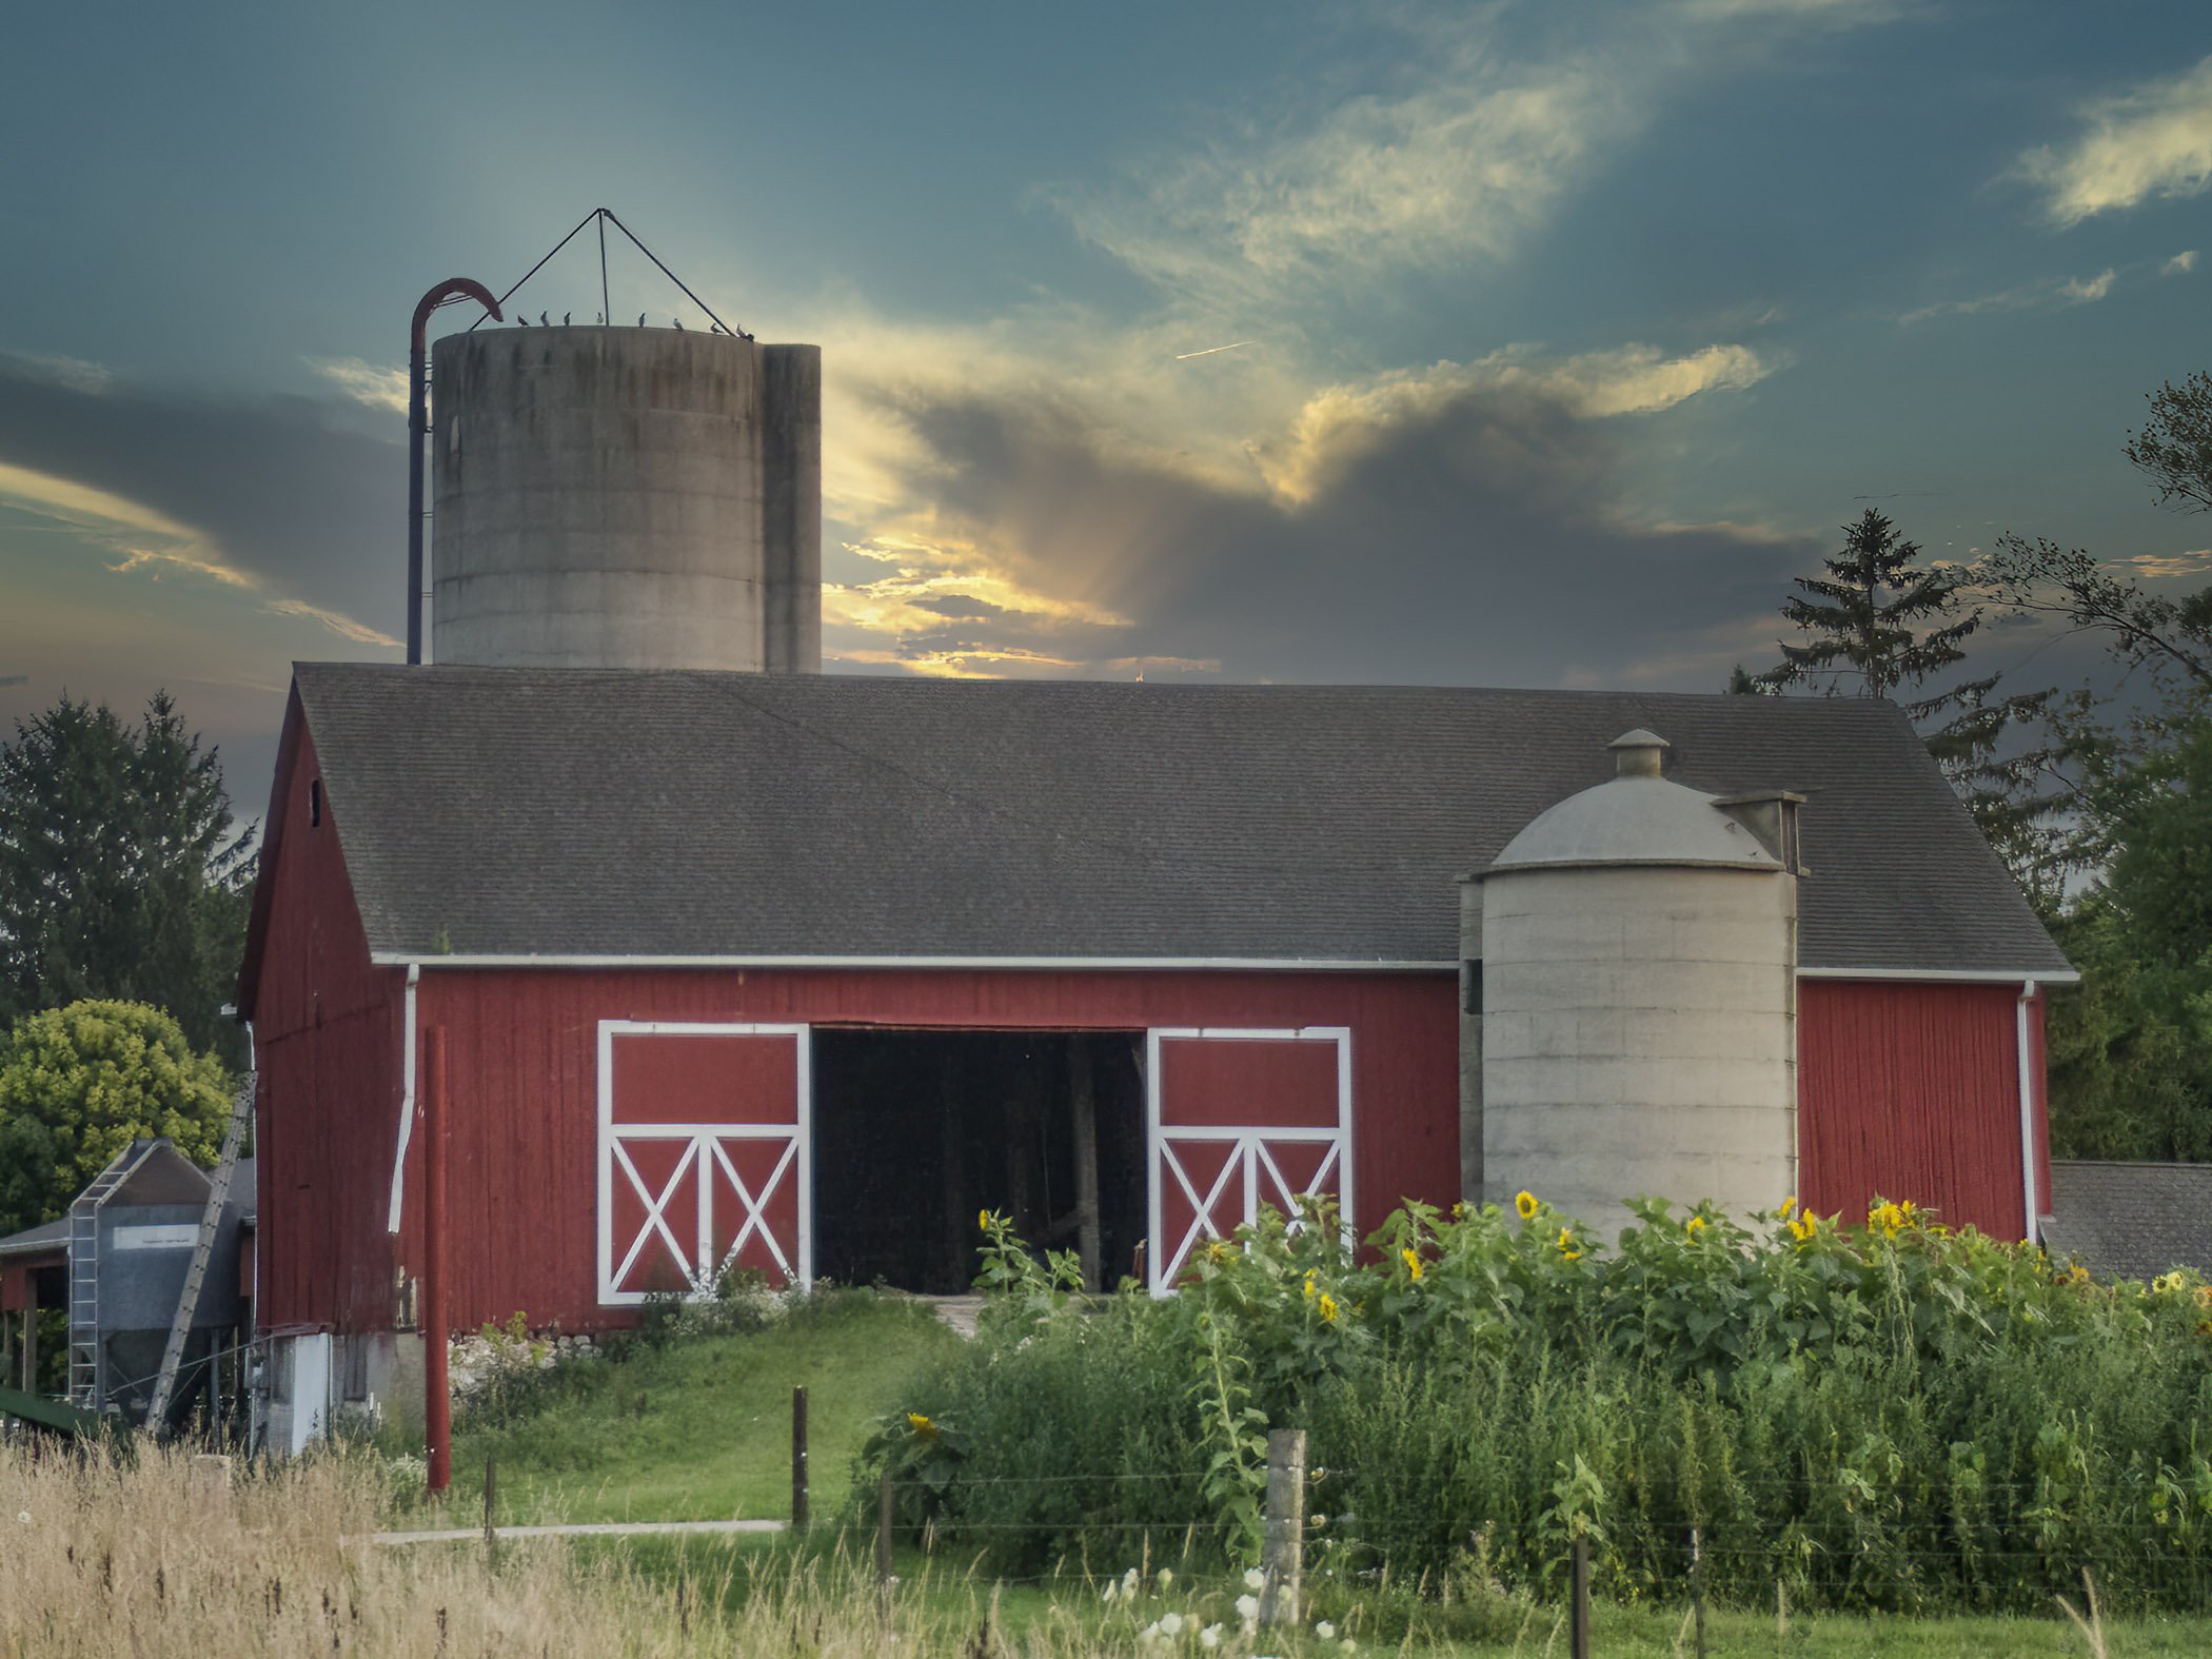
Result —
[{"label": "white X-brace trim on the right-hand barn door", "polygon": [[[1203,1124],[1166,1121],[1161,1108],[1161,1042],[1329,1042],[1336,1044],[1336,1124]],[[1230,1188],[1241,1183],[1239,1217],[1250,1223],[1263,1203],[1283,1214],[1292,1214],[1296,1199],[1334,1186],[1345,1232],[1352,1232],[1354,1186],[1352,1186],[1352,1026],[1298,1026],[1285,1031],[1241,1029],[1241,1026],[1152,1026],[1144,1033],[1144,1139],[1146,1139],[1146,1281],[1155,1296],[1166,1296],[1175,1287],[1177,1274],[1201,1239],[1223,1237],[1212,1223],[1212,1210],[1221,1199],[1232,1197]],[[1177,1146],[1232,1141],[1221,1170],[1201,1190],[1183,1168]],[[1327,1150],[1321,1164],[1292,1192],[1292,1181],[1270,1155],[1270,1144],[1305,1141]],[[1161,1194],[1175,1181],[1190,1201],[1194,1219],[1181,1237],[1161,1237]]]}]

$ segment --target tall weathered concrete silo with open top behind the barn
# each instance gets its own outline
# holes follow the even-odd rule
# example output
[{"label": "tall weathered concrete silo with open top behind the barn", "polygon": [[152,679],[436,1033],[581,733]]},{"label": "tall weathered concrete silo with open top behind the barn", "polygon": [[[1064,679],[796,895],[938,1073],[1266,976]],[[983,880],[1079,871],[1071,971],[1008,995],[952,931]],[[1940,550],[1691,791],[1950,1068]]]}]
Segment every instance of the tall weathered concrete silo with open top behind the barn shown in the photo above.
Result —
[{"label": "tall weathered concrete silo with open top behind the barn", "polygon": [[431,389],[434,661],[821,672],[821,347],[478,330]]}]

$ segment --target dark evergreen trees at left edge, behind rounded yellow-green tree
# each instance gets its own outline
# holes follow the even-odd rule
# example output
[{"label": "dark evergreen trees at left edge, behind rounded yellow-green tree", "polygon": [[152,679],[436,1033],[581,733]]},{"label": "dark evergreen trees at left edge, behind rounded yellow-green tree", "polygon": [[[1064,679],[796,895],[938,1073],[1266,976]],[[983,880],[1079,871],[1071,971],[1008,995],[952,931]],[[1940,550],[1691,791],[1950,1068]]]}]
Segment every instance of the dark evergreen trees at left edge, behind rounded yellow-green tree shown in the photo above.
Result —
[{"label": "dark evergreen trees at left edge, behind rounded yellow-green tree", "polygon": [[246,949],[252,832],[168,692],[137,726],[64,697],[0,748],[0,1018],[80,998],[168,1009],[243,1062],[221,1006]]}]

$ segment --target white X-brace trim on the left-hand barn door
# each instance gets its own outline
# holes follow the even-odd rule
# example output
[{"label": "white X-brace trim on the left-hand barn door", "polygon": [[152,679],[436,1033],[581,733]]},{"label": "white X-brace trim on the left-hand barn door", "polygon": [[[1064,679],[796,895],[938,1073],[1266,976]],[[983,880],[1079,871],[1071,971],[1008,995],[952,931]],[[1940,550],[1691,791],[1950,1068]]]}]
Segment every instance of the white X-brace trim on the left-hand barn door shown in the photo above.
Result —
[{"label": "white X-brace trim on the left-hand barn door", "polygon": [[[792,1102],[790,1121],[615,1121],[615,1037],[790,1037],[794,1048],[794,1071],[799,1097]],[[708,1024],[684,1020],[602,1020],[599,1022],[599,1305],[635,1307],[650,1292],[622,1290],[622,1281],[637,1265],[637,1256],[653,1248],[655,1239],[668,1248],[690,1274],[690,1294],[708,1294],[714,1276],[737,1259],[745,1243],[759,1237],[785,1279],[796,1285],[814,1281],[814,1077],[812,1077],[812,1026],[792,1024]],[[626,1141],[686,1141],[675,1170],[653,1190],[653,1181],[639,1175],[624,1150]],[[781,1141],[783,1152],[770,1175],[754,1192],[743,1175],[732,1166],[723,1141]],[[714,1175],[728,1181],[730,1192],[743,1214],[730,1248],[717,1261],[714,1252]],[[635,1239],[615,1241],[615,1192],[617,1181],[644,1206],[644,1221]],[[692,1181],[695,1223],[690,1239],[677,1239],[666,1210],[684,1181]],[[768,1206],[776,1190],[796,1183],[796,1239],[779,1239]]]}]

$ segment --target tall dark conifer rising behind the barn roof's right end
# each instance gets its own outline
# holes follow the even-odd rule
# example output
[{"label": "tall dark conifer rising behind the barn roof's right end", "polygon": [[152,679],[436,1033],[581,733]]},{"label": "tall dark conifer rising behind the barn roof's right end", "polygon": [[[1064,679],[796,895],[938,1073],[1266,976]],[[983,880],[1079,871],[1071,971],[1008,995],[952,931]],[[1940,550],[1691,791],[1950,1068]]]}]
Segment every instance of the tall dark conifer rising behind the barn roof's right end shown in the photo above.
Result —
[{"label": "tall dark conifer rising behind the barn roof's right end", "polygon": [[1871,507],[1845,524],[1843,551],[1823,566],[1827,575],[1794,577],[1798,593],[1783,602],[1801,644],[1778,641],[1774,668],[1754,675],[1739,666],[1728,688],[1896,699],[1982,834],[2022,885],[2033,885],[2051,810],[2037,787],[2046,757],[2035,745],[2006,748],[2006,734],[2037,721],[2053,692],[2004,697],[1997,675],[1951,675],[1982,626],[1982,611],[1969,604],[1973,571],[1922,564],[1920,544]]}]

